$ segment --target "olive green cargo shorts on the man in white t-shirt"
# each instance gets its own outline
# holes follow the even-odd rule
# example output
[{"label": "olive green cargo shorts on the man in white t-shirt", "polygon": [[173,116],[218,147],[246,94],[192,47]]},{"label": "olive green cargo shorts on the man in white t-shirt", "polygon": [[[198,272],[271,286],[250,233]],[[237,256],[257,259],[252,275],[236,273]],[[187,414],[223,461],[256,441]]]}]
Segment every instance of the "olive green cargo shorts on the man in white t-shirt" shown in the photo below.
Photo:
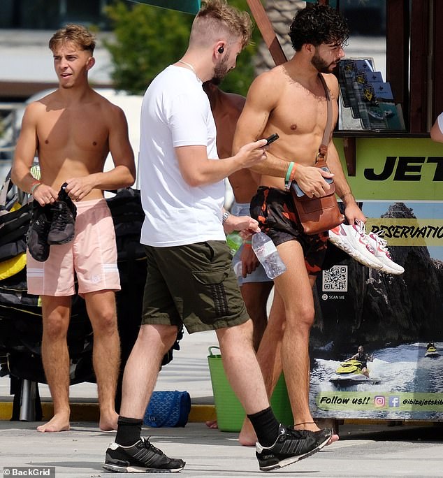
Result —
[{"label": "olive green cargo shorts on the man in white t-shirt", "polygon": [[189,333],[249,319],[224,241],[145,246],[147,280],[142,324],[182,324]]}]

